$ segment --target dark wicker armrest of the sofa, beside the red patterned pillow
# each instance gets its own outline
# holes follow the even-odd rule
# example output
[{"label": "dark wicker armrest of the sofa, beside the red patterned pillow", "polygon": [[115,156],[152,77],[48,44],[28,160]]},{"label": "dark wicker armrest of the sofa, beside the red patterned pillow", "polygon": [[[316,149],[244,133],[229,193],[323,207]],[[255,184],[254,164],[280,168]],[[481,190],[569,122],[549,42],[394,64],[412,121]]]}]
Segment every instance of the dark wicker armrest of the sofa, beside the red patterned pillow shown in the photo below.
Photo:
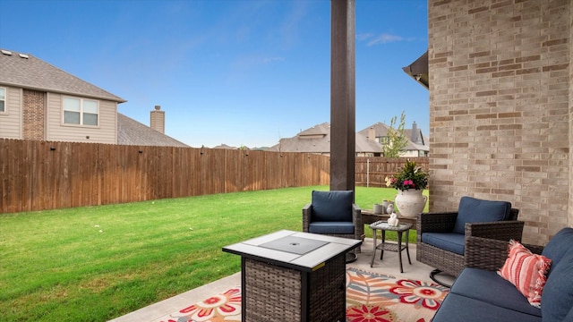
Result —
[{"label": "dark wicker armrest of the sofa, beside the red patterned pillow", "polygon": [[464,265],[495,271],[508,258],[508,241],[466,235]]}]

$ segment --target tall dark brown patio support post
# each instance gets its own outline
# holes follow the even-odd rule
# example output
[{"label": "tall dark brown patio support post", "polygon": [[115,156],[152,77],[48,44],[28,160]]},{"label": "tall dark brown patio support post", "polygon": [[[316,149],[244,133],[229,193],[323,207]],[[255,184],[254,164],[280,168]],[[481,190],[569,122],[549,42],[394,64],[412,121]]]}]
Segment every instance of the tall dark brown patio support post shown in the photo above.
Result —
[{"label": "tall dark brown patio support post", "polygon": [[355,190],[355,0],[330,1],[330,190]]}]

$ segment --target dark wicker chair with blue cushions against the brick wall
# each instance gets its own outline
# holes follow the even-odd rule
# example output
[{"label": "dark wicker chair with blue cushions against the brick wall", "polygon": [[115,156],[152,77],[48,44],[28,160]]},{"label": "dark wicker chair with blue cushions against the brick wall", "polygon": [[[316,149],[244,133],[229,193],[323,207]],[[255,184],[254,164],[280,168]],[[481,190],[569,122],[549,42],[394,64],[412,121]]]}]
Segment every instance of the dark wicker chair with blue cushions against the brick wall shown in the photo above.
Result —
[{"label": "dark wicker chair with blue cushions against the brick wall", "polygon": [[[476,204],[477,203],[477,204]],[[491,212],[488,207],[481,208],[475,205],[495,205],[502,208],[502,203],[506,203],[507,211],[505,216],[498,221],[492,221]],[[469,206],[468,206],[469,205]],[[474,212],[475,218],[470,222],[459,222],[458,214],[463,211],[464,218],[467,219],[468,212]],[[463,197],[460,200],[460,208],[456,212],[443,213],[421,213],[417,216],[416,222],[416,259],[426,265],[434,267],[430,277],[436,283],[442,284],[435,278],[436,274],[444,272],[449,275],[458,276],[464,267],[466,267],[466,244],[465,239],[468,236],[476,236],[509,242],[510,239],[521,240],[524,222],[517,221],[519,210],[511,208],[511,204],[505,201],[490,201]],[[480,217],[486,218],[481,222]],[[457,223],[458,221],[458,223]],[[461,219],[460,219],[461,221]],[[460,228],[463,227],[463,228]],[[463,234],[460,233],[460,229]],[[424,233],[430,233],[424,235]],[[459,235],[458,235],[459,233]],[[446,242],[430,241],[430,237],[444,237],[444,241],[449,238],[455,239],[458,244],[456,247],[444,248]],[[502,263],[503,264],[503,263]],[[449,286],[447,284],[444,284]]]}]

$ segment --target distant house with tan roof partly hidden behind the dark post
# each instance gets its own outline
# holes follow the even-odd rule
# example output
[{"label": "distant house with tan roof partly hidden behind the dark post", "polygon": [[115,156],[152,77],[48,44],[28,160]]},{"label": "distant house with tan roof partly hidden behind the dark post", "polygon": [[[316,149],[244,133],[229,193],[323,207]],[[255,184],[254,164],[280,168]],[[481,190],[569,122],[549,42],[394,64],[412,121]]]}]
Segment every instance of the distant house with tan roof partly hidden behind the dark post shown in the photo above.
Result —
[{"label": "distant house with tan roof partly hidden behind the dark post", "polygon": [[[356,157],[380,157],[382,147],[363,135],[356,135],[355,149]],[[329,156],[330,124],[321,123],[301,131],[295,137],[281,139],[277,145],[267,148],[267,151],[304,152]]]}]

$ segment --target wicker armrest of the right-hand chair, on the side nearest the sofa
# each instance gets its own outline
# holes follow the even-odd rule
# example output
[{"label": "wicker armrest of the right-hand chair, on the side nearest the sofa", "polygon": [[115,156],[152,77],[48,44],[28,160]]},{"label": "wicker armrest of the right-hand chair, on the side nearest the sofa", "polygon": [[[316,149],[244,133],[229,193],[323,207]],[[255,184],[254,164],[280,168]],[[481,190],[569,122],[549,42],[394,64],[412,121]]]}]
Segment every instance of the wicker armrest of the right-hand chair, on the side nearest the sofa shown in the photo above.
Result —
[{"label": "wicker armrest of the right-hand chair, on the side nearest the sofa", "polygon": [[466,223],[466,236],[490,238],[508,242],[521,241],[525,223],[518,220],[506,220],[487,223]]}]

